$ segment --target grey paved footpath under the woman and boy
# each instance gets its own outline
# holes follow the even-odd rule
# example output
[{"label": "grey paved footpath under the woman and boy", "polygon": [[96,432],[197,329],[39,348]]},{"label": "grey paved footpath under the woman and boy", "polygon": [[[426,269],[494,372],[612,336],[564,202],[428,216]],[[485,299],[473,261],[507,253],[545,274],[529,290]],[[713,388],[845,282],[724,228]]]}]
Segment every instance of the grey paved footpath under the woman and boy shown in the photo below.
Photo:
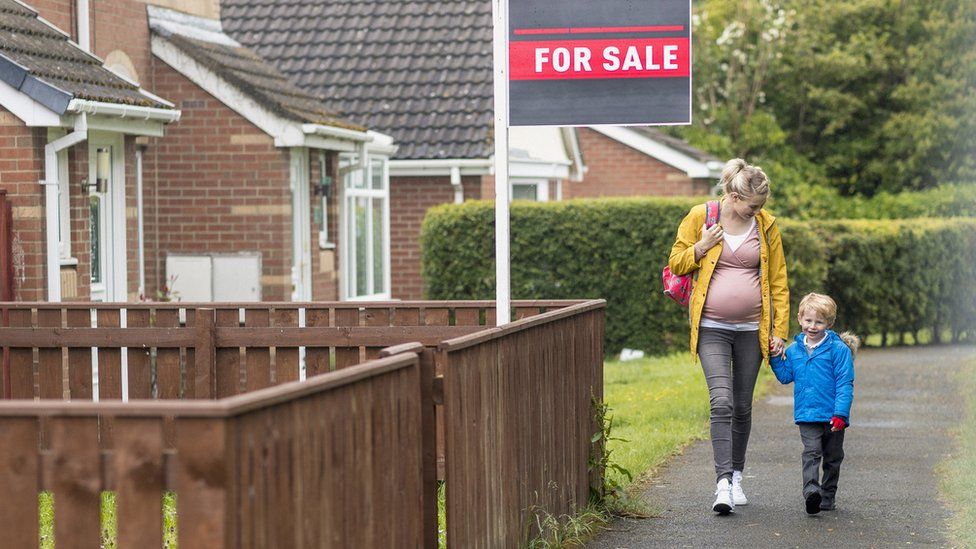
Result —
[{"label": "grey paved footpath under the woman and boy", "polygon": [[645,491],[659,518],[617,520],[587,547],[947,546],[949,512],[934,469],[951,451],[949,432],[962,412],[955,380],[973,356],[976,347],[963,346],[858,353],[836,511],[803,510],[792,385],[774,380],[753,408],[748,506],[727,517],[711,512],[711,445],[695,443]]}]

